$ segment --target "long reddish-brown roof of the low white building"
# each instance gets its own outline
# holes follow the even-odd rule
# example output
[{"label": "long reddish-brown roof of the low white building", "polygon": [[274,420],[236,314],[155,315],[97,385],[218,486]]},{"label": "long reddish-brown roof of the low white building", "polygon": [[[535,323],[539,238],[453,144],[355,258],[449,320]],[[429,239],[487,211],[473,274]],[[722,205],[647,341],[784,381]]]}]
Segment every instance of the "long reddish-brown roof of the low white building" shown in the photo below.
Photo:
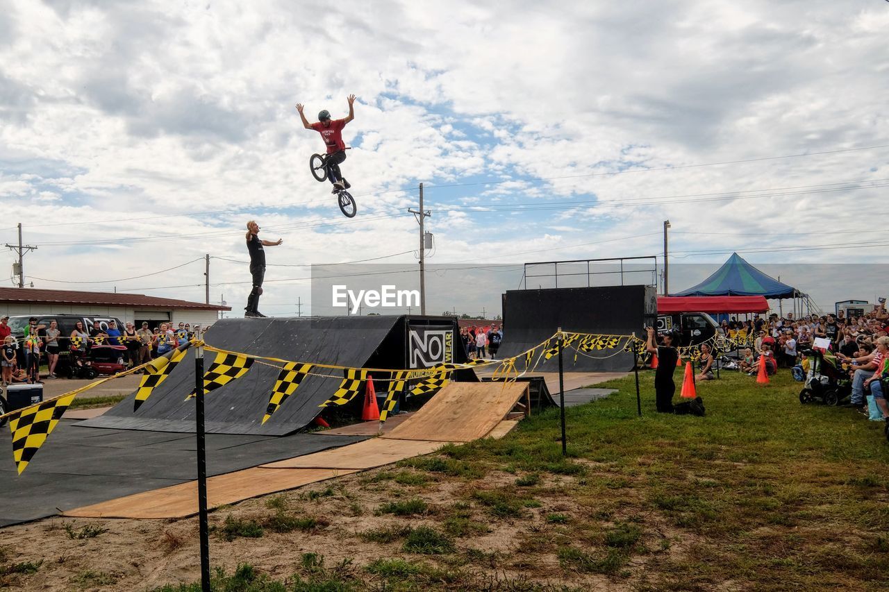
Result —
[{"label": "long reddish-brown roof of the low white building", "polygon": [[231,310],[218,304],[157,298],[125,292],[77,292],[75,290],[38,290],[36,288],[0,288],[0,304],[83,304],[89,306],[135,308],[188,308],[190,310]]}]

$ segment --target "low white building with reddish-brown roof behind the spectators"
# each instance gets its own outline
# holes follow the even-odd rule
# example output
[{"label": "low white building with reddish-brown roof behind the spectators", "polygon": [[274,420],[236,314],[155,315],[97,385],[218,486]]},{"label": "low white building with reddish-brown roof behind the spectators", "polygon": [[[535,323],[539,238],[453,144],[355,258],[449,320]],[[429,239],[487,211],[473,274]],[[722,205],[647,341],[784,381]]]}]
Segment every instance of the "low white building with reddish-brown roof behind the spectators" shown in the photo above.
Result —
[{"label": "low white building with reddish-brown roof behind the spectators", "polygon": [[206,327],[216,322],[220,311],[228,310],[231,307],[144,294],[0,288],[0,314],[9,316],[116,316],[124,323],[132,321],[137,327],[142,321],[148,321],[152,327],[166,321]]}]

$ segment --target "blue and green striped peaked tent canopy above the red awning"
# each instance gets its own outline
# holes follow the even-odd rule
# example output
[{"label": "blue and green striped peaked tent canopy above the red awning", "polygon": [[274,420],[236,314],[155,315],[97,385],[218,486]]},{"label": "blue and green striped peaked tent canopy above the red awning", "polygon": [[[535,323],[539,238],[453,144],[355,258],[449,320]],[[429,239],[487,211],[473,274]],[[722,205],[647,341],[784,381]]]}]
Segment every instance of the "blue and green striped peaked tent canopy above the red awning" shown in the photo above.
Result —
[{"label": "blue and green striped peaked tent canopy above the red awning", "polygon": [[701,284],[671,296],[765,296],[765,298],[794,298],[802,292],[788,284],[781,284],[750,265],[736,252],[716,273]]}]

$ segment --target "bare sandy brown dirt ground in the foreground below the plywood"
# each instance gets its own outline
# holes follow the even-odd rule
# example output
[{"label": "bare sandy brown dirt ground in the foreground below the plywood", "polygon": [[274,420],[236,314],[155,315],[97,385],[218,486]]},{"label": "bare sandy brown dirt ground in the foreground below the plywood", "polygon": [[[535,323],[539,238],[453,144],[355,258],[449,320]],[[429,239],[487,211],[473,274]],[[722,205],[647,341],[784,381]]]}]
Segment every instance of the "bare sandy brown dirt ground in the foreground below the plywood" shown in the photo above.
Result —
[{"label": "bare sandy brown dirt ground in the foreground below the plywood", "polygon": [[[471,569],[482,577],[499,580],[530,579],[543,585],[581,589],[633,588],[636,579],[626,577],[628,574],[615,581],[595,573],[566,572],[555,554],[535,551],[538,540],[570,538],[579,542],[576,525],[605,509],[598,508],[595,501],[588,506],[566,497],[565,491],[575,485],[573,476],[545,476],[534,488],[533,499],[539,502],[539,507],[527,508],[521,517],[502,518],[490,516],[477,502],[469,501],[468,492],[501,488],[514,483],[516,475],[493,471],[470,481],[434,476],[436,480],[417,485],[399,484],[395,480],[421,482],[427,478],[428,473],[388,466],[220,508],[210,515],[211,529],[216,529],[210,539],[212,565],[231,572],[238,564],[249,563],[274,579],[284,580],[300,564],[304,553],[324,556],[324,564],[328,566],[345,562],[358,570],[374,559],[401,557],[442,568],[453,567],[456,561],[464,570]],[[379,512],[387,502],[417,496],[428,504],[418,516]],[[469,531],[455,538],[456,549],[448,555],[404,553],[401,540],[368,542],[361,536],[424,524],[441,531],[447,520],[453,520],[455,507],[461,508],[459,516],[469,517],[460,523]],[[308,531],[281,533],[267,527],[260,538],[239,537],[231,541],[221,535],[220,529],[227,518],[264,524],[282,510],[289,516],[313,517],[316,526]],[[567,524],[551,524],[554,513],[565,516]],[[619,516],[615,514],[614,520],[617,519]],[[648,532],[651,526],[649,521]],[[107,529],[107,532],[89,538],[95,529]],[[76,538],[82,533],[88,538]],[[681,556],[688,542],[669,532],[667,526],[657,535],[646,536],[669,539],[669,550],[660,556],[669,555],[674,559]],[[651,548],[664,546],[659,540],[642,542]],[[12,588],[60,592],[150,590],[166,584],[193,582],[200,577],[196,517],[183,520],[45,519],[0,530],[0,548],[9,564],[43,562],[33,573],[7,574],[6,583]],[[645,559],[634,558],[627,568],[630,572],[643,571]]]}]

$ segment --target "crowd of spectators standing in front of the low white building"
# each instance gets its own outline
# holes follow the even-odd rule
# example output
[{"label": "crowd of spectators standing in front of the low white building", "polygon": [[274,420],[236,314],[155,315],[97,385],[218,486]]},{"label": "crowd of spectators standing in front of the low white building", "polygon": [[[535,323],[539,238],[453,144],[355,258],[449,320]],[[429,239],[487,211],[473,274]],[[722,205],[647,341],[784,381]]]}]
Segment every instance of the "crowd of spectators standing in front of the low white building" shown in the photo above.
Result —
[{"label": "crowd of spectators standing in front of the low white building", "polygon": [[118,327],[116,321],[108,321],[102,328],[99,321],[84,327],[77,321],[74,330],[63,335],[56,321],[49,326],[37,324],[31,317],[21,335],[12,335],[9,316],[0,318],[0,364],[3,386],[15,382],[42,382],[41,364],[46,366],[46,378],[58,378],[56,367],[59,356],[70,352],[69,364],[83,364],[91,354],[103,351],[112,354],[124,368],[145,364],[157,356],[163,356],[188,340],[203,337],[206,327],[189,323],[161,323],[152,328],[142,322],[139,329],[132,323]]}]

